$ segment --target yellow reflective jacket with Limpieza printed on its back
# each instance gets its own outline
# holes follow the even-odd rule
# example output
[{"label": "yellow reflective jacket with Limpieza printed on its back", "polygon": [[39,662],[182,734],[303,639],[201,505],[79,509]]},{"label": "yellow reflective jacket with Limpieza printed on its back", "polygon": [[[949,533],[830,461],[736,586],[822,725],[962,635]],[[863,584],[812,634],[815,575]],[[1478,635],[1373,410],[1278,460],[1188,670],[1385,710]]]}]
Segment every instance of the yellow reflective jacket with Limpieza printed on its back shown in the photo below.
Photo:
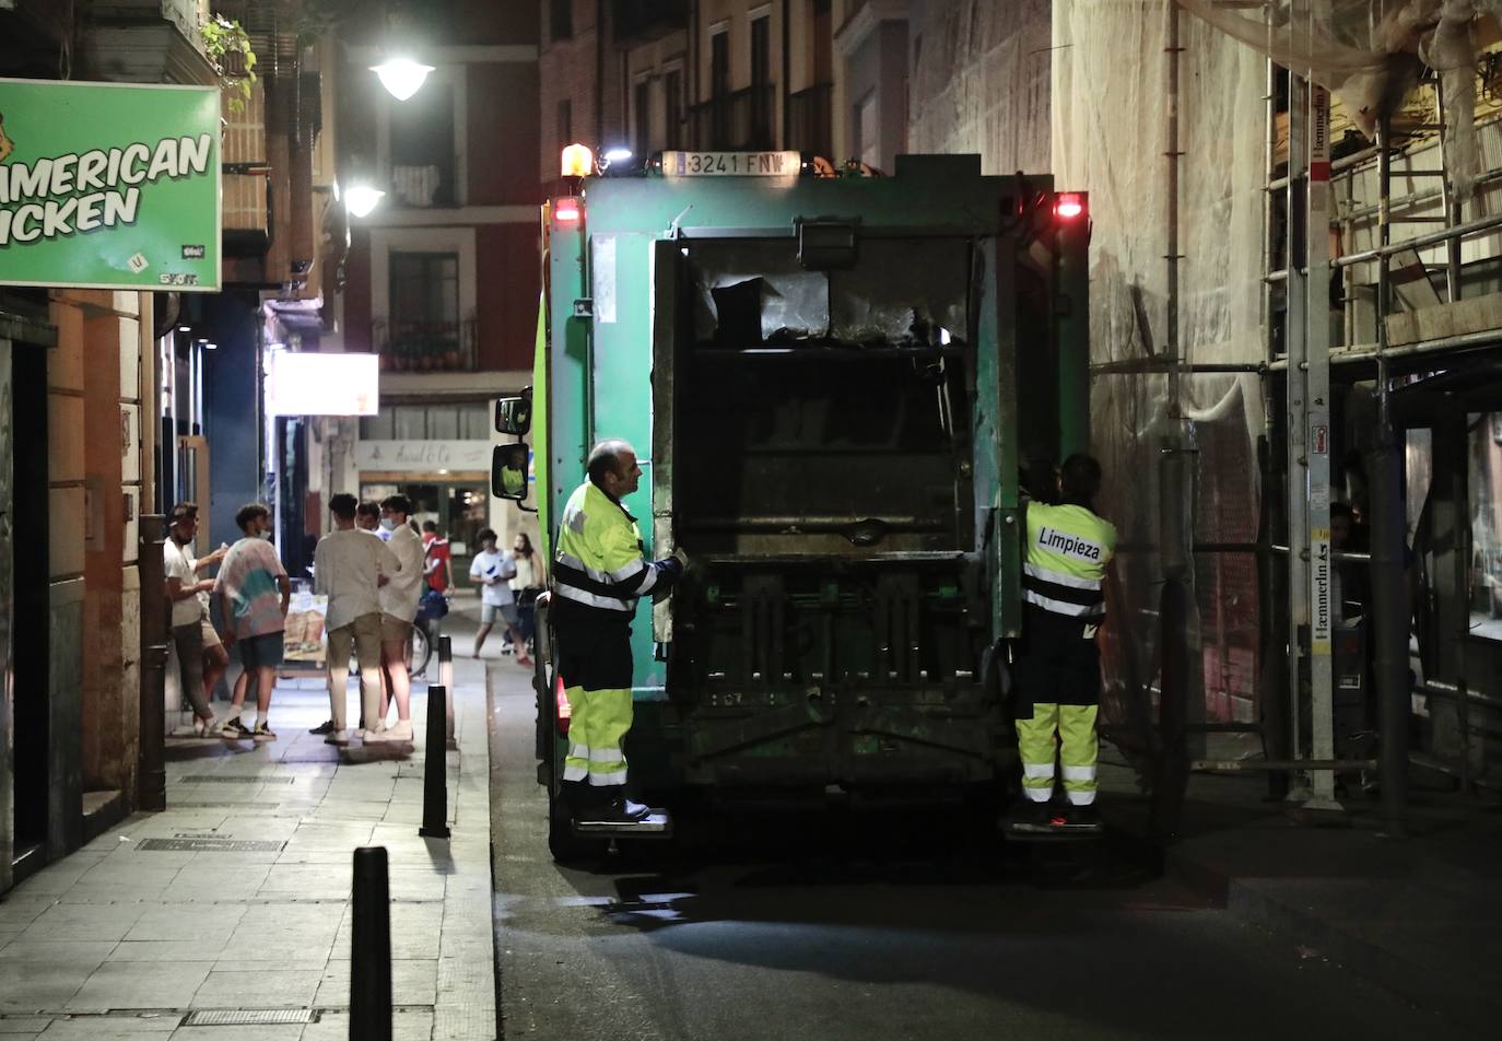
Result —
[{"label": "yellow reflective jacket with Limpieza printed on its back", "polygon": [[1101,578],[1116,550],[1116,529],[1084,506],[1027,503],[1023,599],[1090,625],[1105,620]]}]

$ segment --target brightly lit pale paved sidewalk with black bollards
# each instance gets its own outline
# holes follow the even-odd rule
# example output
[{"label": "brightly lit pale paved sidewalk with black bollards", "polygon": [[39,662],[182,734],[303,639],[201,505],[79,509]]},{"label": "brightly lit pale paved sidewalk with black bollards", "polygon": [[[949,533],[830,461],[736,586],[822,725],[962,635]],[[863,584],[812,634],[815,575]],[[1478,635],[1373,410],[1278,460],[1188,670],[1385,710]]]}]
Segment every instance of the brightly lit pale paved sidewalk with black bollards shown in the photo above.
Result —
[{"label": "brightly lit pale paved sidewalk with black bollards", "polygon": [[0,1038],[345,1038],[357,846],[389,855],[395,1036],[494,1038],[484,662],[454,637],[451,840],[418,837],[427,686],[397,759],[308,735],[321,682],[282,680],[276,742],[170,741],[165,813],[0,898]]}]

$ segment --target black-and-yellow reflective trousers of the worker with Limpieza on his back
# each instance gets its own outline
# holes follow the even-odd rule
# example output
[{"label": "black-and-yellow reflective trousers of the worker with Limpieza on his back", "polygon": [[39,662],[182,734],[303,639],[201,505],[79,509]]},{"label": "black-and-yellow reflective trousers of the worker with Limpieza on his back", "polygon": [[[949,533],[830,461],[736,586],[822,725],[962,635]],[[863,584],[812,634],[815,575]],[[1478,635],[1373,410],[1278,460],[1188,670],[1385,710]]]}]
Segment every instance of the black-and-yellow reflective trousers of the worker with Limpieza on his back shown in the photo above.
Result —
[{"label": "black-and-yellow reflective trousers of the worker with Limpieza on his back", "polygon": [[1101,659],[1095,626],[1029,605],[1017,656],[1017,751],[1023,793],[1033,802],[1053,798],[1054,760],[1069,802],[1095,802],[1099,741]]}]

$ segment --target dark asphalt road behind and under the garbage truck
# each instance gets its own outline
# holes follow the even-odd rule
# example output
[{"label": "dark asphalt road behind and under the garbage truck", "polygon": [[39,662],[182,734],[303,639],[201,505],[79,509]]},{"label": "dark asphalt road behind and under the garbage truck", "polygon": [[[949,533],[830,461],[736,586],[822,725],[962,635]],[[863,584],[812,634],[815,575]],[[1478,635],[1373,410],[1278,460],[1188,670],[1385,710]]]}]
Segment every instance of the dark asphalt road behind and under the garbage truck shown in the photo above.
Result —
[{"label": "dark asphalt road behind and under the garbage truck", "polygon": [[544,1041],[1463,1036],[1253,931],[1128,846],[963,819],[679,819],[556,865],[533,700],[493,673],[500,1036]]}]

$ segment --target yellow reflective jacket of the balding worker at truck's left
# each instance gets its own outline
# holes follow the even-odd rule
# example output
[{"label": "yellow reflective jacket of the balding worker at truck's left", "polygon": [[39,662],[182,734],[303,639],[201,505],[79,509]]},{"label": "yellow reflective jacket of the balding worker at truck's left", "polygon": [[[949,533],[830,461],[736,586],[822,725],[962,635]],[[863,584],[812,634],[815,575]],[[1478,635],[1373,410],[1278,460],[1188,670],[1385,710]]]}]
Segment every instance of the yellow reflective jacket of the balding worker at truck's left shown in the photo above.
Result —
[{"label": "yellow reflective jacket of the balding worker at truck's left", "polygon": [[559,596],[607,611],[635,611],[637,598],[658,584],[646,559],[637,518],[586,481],[563,506],[553,584]]}]

